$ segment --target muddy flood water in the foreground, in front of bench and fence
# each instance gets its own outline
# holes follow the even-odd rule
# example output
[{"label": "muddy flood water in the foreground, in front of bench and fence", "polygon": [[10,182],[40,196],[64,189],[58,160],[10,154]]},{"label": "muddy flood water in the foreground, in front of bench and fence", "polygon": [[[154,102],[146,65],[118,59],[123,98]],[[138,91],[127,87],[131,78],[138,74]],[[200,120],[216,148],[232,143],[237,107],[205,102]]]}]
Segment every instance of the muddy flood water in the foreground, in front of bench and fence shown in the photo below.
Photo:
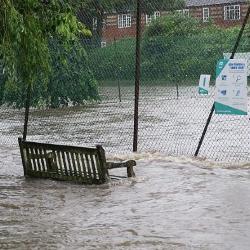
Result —
[{"label": "muddy flood water in the foreground, in front of bench and fence", "polygon": [[136,157],[135,179],[103,186],[1,170],[0,249],[249,249],[248,168]]}]

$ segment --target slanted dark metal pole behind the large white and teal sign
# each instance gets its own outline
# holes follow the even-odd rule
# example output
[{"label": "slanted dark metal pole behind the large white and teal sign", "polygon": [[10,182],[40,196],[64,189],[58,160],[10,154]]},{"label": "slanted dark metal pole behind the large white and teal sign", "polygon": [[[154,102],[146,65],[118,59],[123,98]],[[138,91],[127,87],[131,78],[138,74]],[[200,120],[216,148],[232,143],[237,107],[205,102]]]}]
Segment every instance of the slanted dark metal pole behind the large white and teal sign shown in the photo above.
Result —
[{"label": "slanted dark metal pole behind the large white and teal sign", "polygon": [[[239,46],[239,44],[240,44],[240,40],[241,40],[241,38],[242,38],[243,32],[244,32],[245,27],[246,27],[246,24],[247,24],[247,20],[248,20],[248,18],[249,18],[249,14],[250,14],[250,6],[248,7],[247,14],[246,14],[245,19],[244,19],[244,21],[243,21],[241,30],[240,30],[240,32],[239,32],[238,38],[237,38],[237,40],[236,40],[236,43],[235,43],[235,45],[234,45],[233,52],[232,52],[232,54],[231,54],[230,59],[233,59],[233,58],[234,58],[234,55],[235,55],[235,53],[236,53],[236,51],[237,51],[237,49],[238,49],[238,46]],[[203,140],[204,140],[205,135],[206,135],[206,133],[207,133],[208,126],[209,126],[209,124],[210,124],[210,122],[211,122],[211,119],[212,119],[214,110],[215,110],[215,105],[213,104],[213,106],[212,106],[212,108],[211,108],[211,111],[210,111],[210,114],[209,114],[209,116],[208,116],[208,119],[207,119],[205,128],[204,128],[204,130],[203,130],[203,132],[202,132],[202,136],[201,136],[201,138],[200,138],[198,147],[197,147],[197,149],[196,149],[196,151],[195,151],[194,156],[198,156],[198,154],[199,154],[199,151],[200,151],[200,148],[201,148],[201,146],[202,146]]]}]

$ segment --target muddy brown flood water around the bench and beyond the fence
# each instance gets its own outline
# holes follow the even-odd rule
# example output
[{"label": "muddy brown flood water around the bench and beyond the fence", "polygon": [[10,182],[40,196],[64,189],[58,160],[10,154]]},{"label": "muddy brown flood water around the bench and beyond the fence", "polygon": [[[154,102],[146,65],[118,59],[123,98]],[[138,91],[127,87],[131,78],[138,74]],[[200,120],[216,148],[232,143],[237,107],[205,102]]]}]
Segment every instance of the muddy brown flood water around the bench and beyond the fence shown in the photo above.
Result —
[{"label": "muddy brown flood water around the bench and beyond the fence", "polygon": [[[93,104],[67,112],[32,111],[30,139],[77,145],[98,142],[111,160],[137,160],[136,178],[101,186],[25,179],[16,145],[22,112],[2,109],[0,249],[249,249],[250,164],[245,157],[249,145],[236,143],[203,157],[213,145],[232,145],[223,135],[237,136],[233,125],[248,131],[242,125],[245,120],[230,118],[224,129],[219,123],[219,130],[214,130],[219,140],[205,145],[202,159],[193,159],[200,122],[193,114],[194,99],[183,101],[178,110],[173,109],[178,100],[164,104],[159,93],[154,103],[142,100],[144,139],[138,154],[130,153],[131,102]],[[200,105],[202,117],[210,102]],[[185,110],[179,119],[184,107],[190,113]],[[178,126],[171,123],[170,111]],[[215,118],[212,126],[220,119]],[[101,128],[97,121],[102,121]],[[166,126],[168,133],[163,132]],[[236,147],[240,148],[228,157]],[[223,154],[230,164],[215,161]],[[112,171],[125,175],[124,170]]]}]

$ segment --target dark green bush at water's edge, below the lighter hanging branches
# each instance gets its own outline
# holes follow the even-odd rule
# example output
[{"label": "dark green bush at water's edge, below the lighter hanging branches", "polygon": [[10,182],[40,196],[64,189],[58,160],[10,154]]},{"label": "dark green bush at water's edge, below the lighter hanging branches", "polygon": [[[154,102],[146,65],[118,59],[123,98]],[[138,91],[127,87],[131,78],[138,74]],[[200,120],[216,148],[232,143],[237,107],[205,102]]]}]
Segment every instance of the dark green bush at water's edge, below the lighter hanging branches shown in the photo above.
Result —
[{"label": "dark green bush at water's edge, below the lighter hanging branches", "polygon": [[[86,51],[77,40],[71,41],[65,48],[63,41],[52,39],[49,54],[52,60],[51,74],[48,79],[40,75],[37,82],[34,82],[31,106],[56,108],[99,99]],[[26,88],[26,84],[21,81],[14,85],[6,84],[2,92],[2,103],[24,107]]]}]

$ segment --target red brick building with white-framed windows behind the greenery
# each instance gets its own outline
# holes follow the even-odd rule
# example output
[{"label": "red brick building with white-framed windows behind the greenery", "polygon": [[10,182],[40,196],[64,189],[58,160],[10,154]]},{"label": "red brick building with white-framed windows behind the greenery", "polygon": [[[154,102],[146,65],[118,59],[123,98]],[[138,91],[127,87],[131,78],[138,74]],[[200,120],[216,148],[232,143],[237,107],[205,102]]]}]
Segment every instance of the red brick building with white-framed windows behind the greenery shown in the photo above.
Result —
[{"label": "red brick building with white-framed windows behind the greenery", "polygon": [[[242,23],[249,3],[247,0],[186,0],[186,7],[177,12],[198,18],[201,22],[211,20],[217,25],[231,27]],[[152,15],[142,14],[142,28],[153,19],[167,15],[155,11]],[[96,20],[93,20],[95,29]],[[132,13],[108,14],[102,29],[102,46],[125,37],[136,36],[136,17]]]}]

